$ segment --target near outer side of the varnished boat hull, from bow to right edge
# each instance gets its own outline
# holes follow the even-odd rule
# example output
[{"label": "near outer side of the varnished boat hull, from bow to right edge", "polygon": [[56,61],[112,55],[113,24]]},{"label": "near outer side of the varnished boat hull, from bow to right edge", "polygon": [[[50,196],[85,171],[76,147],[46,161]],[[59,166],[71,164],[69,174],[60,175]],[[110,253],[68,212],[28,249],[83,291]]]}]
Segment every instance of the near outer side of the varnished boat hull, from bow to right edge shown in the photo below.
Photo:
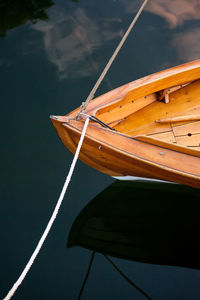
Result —
[{"label": "near outer side of the varnished boat hull, from bow to right edge", "polygon": [[[65,146],[74,153],[84,122],[71,120],[70,123],[61,124],[55,119],[52,122]],[[160,178],[200,187],[200,151],[184,147],[181,149],[175,144],[146,138],[147,142],[141,142],[111,130],[89,125],[80,159],[111,176]],[[161,145],[166,148],[163,149]],[[169,147],[174,147],[175,151]],[[187,155],[187,152],[190,155]]]}]

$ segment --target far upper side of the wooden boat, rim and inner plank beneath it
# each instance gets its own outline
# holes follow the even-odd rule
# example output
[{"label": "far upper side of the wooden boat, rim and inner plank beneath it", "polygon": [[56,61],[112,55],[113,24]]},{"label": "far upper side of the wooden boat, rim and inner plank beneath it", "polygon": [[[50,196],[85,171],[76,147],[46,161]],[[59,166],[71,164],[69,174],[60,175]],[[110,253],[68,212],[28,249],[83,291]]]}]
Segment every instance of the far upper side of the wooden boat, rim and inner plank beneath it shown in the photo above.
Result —
[{"label": "far upper side of the wooden boat, rim and inner plank beneath it", "polygon": [[[138,99],[146,95],[150,95],[159,90],[176,86],[179,84],[182,85],[184,83],[188,83],[199,78],[200,60],[195,60],[180,66],[173,67],[171,69],[163,70],[161,72],[148,75],[141,79],[134,80],[118,88],[115,88],[92,100],[89,103],[85,113],[95,115],[97,111],[99,114],[99,109],[103,107],[105,108],[105,111],[107,111],[109,110],[108,106],[110,106],[111,104],[116,103],[118,106],[119,102],[122,101],[125,95],[127,95],[127,93],[130,91],[132,91],[136,96],[135,99]],[[131,100],[133,100],[133,97]],[[79,111],[80,108],[77,108],[73,112],[71,112],[69,114],[70,118],[75,118]],[[102,111],[102,113],[105,111]]]}]

